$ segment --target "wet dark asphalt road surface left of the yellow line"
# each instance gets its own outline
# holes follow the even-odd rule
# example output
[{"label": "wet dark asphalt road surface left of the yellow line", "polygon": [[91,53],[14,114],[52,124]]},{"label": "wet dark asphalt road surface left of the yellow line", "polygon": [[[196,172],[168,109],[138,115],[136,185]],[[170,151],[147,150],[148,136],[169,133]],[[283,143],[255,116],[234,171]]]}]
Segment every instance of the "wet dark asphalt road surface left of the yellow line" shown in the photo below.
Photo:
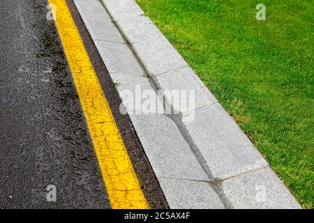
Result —
[{"label": "wet dark asphalt road surface left of the yellow line", "polygon": [[[0,1],[0,208],[110,208],[46,7]],[[47,185],[57,202],[47,202]]]}]

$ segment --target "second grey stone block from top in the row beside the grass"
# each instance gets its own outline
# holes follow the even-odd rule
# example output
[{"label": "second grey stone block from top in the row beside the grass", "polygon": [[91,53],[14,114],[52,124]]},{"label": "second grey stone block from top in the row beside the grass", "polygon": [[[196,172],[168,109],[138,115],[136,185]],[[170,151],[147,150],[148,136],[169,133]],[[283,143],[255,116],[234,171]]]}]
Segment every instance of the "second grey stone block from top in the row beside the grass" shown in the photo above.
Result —
[{"label": "second grey stone block from top in the row beside the grass", "polygon": [[152,36],[162,36],[159,29],[148,17],[136,16],[128,20],[117,22],[119,28],[124,32],[130,43],[137,43]]}]

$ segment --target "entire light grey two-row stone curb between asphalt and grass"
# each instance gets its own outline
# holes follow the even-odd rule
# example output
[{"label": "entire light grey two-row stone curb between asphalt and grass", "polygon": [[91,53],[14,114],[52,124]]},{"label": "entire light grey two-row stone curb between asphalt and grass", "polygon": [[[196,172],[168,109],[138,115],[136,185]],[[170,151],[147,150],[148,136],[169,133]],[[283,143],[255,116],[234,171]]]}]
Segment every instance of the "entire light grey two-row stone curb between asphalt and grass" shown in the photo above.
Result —
[{"label": "entire light grey two-row stone curb between asphalt and grass", "polygon": [[[119,83],[117,90],[170,208],[301,208],[134,0],[74,2],[110,76]],[[135,85],[153,92],[150,97],[162,109],[139,110],[126,95],[136,95]],[[193,107],[177,106],[165,93],[173,90],[195,92]]]}]

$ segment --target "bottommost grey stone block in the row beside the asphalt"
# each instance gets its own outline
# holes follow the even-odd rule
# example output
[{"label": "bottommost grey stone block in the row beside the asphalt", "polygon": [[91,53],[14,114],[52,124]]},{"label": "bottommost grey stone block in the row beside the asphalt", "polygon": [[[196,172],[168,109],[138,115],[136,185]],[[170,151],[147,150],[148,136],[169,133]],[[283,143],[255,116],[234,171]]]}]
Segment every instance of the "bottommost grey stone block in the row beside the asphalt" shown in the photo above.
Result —
[{"label": "bottommost grey stone block in the row beside the asphalt", "polygon": [[218,194],[206,182],[159,178],[171,209],[223,209]]}]

